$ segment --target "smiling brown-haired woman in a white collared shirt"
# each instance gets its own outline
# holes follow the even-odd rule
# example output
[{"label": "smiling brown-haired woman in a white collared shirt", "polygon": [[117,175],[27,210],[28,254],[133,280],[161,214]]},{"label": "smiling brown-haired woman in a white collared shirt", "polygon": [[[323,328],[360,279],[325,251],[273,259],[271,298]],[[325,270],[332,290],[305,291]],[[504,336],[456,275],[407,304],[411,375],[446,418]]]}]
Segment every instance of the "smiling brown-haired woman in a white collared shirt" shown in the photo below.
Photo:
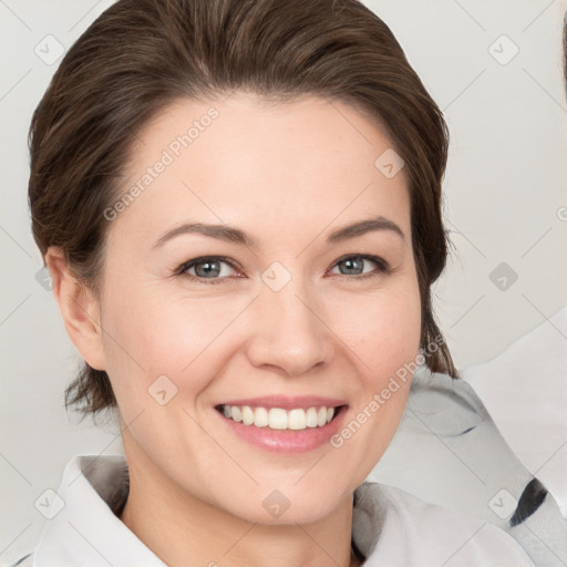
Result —
[{"label": "smiling brown-haired woman in a white collared shirt", "polygon": [[33,235],[85,361],[68,403],[114,411],[126,456],[68,465],[33,565],[533,565],[363,484],[408,400],[392,377],[458,380],[430,292],[446,126],[377,16],[121,0],[30,135]]}]

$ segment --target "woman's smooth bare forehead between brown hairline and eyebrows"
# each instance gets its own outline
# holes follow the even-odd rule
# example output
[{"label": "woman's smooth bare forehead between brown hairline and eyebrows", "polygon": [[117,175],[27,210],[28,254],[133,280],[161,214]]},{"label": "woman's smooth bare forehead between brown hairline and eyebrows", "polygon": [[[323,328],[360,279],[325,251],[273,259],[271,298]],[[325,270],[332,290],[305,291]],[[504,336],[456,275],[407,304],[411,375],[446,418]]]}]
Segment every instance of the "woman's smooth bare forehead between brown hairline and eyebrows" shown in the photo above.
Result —
[{"label": "woman's smooth bare forehead between brown hairline and eyebrows", "polygon": [[122,188],[135,197],[111,230],[135,236],[200,220],[285,238],[296,223],[320,230],[374,214],[409,231],[403,167],[394,176],[380,167],[392,152],[375,123],[337,101],[178,100],[134,142]]}]

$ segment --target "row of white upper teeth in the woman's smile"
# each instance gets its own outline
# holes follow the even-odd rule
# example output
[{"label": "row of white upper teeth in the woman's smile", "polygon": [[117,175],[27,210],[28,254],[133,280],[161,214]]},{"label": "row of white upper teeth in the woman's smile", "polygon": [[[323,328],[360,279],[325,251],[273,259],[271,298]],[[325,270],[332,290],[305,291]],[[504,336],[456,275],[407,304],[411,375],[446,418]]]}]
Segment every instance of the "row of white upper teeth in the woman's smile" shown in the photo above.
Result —
[{"label": "row of white upper teeth in the woman's smile", "polygon": [[334,408],[309,408],[307,411],[297,408],[290,411],[281,408],[250,408],[249,405],[223,405],[225,417],[245,425],[266,427],[271,430],[305,430],[307,427],[322,427],[334,415]]}]

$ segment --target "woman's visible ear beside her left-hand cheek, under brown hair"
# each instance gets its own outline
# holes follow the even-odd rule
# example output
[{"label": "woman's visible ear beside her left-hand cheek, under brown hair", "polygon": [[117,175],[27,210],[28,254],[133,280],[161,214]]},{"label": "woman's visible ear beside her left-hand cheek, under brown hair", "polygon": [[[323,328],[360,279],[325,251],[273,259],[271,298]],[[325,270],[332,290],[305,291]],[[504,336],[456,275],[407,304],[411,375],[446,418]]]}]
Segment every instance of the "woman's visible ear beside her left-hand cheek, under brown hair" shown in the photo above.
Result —
[{"label": "woman's visible ear beside her left-hand cheek, under brown hair", "polygon": [[104,370],[99,300],[74,277],[62,248],[50,246],[45,254],[45,264],[69,337],[91,368]]}]

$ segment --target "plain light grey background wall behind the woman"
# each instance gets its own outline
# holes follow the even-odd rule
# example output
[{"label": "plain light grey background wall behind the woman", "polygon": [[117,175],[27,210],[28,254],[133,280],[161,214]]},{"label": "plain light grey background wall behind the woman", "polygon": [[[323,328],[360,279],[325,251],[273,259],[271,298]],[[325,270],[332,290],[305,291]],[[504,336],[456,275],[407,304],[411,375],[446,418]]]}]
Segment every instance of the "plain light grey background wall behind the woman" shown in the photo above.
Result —
[{"label": "plain light grey background wall behind the woman", "polygon": [[[28,126],[61,61],[45,61],[39,49],[48,43],[56,56],[111,3],[0,0],[0,561],[7,564],[37,544],[45,519],[34,502],[56,491],[73,455],[123,451],[111,427],[79,424],[64,410],[80,358],[51,291],[37,279],[42,262],[27,203]],[[445,219],[455,251],[435,285],[435,311],[457,367],[477,364],[566,305],[566,2],[364,3],[390,25],[449,123]]]}]

